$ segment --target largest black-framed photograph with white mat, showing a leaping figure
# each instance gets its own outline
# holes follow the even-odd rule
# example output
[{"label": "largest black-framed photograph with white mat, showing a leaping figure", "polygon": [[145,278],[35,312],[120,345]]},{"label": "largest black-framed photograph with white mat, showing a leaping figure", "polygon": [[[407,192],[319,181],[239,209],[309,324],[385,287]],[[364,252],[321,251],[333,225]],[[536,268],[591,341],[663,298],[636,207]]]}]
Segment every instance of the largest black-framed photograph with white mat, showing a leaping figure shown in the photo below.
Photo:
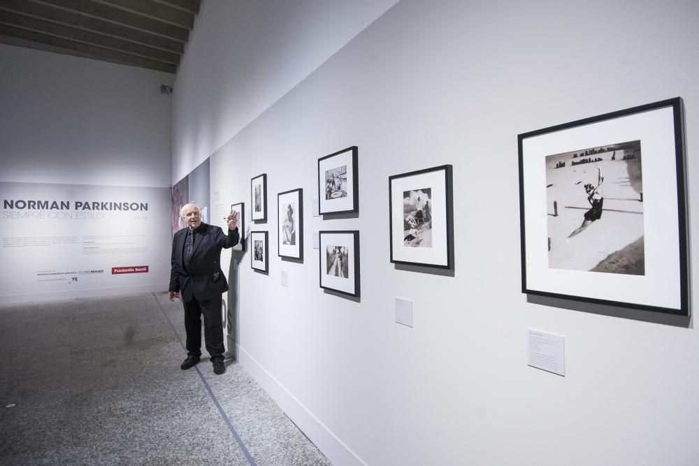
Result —
[{"label": "largest black-framed photograph with white mat, showing a leaping figure", "polygon": [[518,139],[522,292],[689,315],[681,99]]}]

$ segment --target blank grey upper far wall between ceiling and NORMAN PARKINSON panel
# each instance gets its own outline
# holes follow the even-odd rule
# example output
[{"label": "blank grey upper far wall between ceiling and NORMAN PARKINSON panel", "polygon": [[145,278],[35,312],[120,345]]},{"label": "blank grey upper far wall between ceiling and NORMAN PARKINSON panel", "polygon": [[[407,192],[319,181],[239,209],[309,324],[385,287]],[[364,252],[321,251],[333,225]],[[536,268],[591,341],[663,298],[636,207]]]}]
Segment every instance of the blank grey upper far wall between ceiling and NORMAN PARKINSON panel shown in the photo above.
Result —
[{"label": "blank grey upper far wall between ceiling and NORMAN PARKINSON panel", "polygon": [[168,187],[173,75],[0,45],[0,180]]}]

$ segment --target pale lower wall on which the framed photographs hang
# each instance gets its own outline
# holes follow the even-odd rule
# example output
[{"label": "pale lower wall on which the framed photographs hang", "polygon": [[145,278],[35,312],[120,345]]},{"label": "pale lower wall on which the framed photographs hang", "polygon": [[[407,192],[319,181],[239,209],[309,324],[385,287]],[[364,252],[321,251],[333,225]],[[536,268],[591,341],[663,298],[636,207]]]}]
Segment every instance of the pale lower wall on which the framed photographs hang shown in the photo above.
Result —
[{"label": "pale lower wall on which the framed photographs hang", "polygon": [[[271,270],[241,263],[240,362],[333,463],[699,462],[693,323],[528,303],[517,173],[518,133],[682,96],[699,218],[698,20],[693,0],[403,0],[212,154],[228,174],[212,191],[231,202],[250,203],[250,178],[268,175],[271,214],[253,229],[270,231]],[[349,145],[359,218],[311,217],[317,159]],[[442,163],[454,166],[454,277],[398,269],[388,177]],[[297,187],[301,264],[276,256],[275,194]],[[361,231],[359,302],[319,289],[319,229]],[[396,296],[414,301],[415,328],[394,323]],[[526,328],[565,336],[566,377],[526,366]]]}]

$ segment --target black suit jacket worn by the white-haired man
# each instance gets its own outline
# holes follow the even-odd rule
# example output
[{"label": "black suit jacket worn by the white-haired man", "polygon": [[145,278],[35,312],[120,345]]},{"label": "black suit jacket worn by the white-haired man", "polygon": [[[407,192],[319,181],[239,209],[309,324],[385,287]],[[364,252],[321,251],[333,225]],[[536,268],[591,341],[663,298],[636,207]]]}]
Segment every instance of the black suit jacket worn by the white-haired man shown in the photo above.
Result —
[{"label": "black suit jacket worn by the white-haired man", "polygon": [[[169,291],[180,292],[182,299],[191,301],[210,300],[217,294],[228,291],[228,282],[221,272],[221,249],[228,249],[238,244],[240,233],[238,228],[224,235],[218,226],[202,223],[196,229],[192,259],[189,267],[182,263],[182,253],[185,251],[185,240],[189,227],[182,228],[173,238],[172,269],[170,271]],[[218,272],[218,279],[215,274]]]}]

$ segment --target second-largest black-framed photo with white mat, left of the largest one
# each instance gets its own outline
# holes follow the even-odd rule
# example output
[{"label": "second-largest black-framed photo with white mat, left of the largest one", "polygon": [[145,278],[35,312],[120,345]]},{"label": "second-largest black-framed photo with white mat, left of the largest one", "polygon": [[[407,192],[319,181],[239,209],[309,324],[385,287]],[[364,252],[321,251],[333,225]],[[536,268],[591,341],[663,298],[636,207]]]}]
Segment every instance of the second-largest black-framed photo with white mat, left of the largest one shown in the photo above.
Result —
[{"label": "second-largest black-framed photo with white mat, left of the largest one", "polygon": [[452,166],[389,177],[391,262],[452,268]]}]

